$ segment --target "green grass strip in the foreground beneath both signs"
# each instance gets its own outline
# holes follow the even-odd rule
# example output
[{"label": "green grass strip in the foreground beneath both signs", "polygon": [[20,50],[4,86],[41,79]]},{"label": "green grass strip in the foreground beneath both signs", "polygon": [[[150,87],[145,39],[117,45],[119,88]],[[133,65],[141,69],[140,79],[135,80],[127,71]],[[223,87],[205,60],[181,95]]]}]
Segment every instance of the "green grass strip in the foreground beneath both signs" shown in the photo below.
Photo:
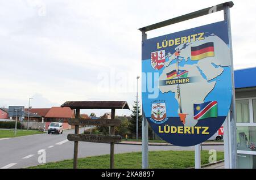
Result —
[{"label": "green grass strip in the foreground beneath both signs", "polygon": [[[201,151],[201,164],[208,164],[208,151]],[[148,153],[149,168],[191,168],[195,166],[194,151],[150,151]],[[223,152],[217,152],[217,161],[224,159]],[[131,152],[114,155],[114,166],[118,169],[141,169],[141,152]],[[108,169],[110,155],[85,157],[78,159],[81,169]],[[49,162],[44,165],[30,167],[31,169],[67,169],[73,168],[73,160]]]}]

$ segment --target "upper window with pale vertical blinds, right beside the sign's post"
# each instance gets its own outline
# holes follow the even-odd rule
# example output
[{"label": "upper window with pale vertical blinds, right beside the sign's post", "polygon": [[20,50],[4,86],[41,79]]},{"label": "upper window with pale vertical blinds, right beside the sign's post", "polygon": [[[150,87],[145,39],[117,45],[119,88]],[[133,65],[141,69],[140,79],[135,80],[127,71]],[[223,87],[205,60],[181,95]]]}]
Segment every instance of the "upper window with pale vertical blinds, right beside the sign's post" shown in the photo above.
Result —
[{"label": "upper window with pale vertical blinds, right beside the sign's post", "polygon": [[237,123],[249,123],[249,100],[236,100]]}]

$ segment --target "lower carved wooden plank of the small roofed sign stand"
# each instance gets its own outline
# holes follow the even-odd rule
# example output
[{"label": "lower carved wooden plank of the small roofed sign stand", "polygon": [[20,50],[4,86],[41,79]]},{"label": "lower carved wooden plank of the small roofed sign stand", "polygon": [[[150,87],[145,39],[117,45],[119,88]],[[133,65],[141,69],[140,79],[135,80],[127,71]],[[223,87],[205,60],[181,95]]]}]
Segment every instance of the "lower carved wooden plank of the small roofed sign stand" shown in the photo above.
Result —
[{"label": "lower carved wooden plank of the small roofed sign stand", "polygon": [[94,135],[94,134],[68,134],[69,141],[93,142],[93,143],[118,143],[120,135]]}]

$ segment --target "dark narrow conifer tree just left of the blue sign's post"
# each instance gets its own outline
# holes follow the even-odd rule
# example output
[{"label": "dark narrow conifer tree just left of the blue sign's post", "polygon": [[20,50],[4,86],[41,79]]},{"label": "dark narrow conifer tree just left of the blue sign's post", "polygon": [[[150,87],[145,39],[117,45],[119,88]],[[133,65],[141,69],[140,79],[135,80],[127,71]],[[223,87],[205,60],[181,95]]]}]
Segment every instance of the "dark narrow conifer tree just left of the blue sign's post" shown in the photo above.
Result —
[{"label": "dark narrow conifer tree just left of the blue sign's post", "polygon": [[139,101],[134,101],[133,110],[131,110],[131,120],[129,123],[129,130],[132,134],[136,134],[136,124],[137,124],[137,106],[138,106],[138,135],[142,132],[142,115],[141,106],[139,106]]}]

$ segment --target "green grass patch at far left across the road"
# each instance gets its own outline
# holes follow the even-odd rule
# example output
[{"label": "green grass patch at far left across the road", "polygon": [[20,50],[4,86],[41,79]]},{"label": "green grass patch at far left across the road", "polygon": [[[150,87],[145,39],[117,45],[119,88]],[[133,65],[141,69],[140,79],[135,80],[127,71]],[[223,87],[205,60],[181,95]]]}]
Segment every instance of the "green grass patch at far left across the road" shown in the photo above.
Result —
[{"label": "green grass patch at far left across the road", "polygon": [[44,132],[17,130],[17,134],[15,136],[15,130],[0,130],[0,138],[14,138],[18,136],[27,136],[27,135],[42,134],[42,133]]}]

